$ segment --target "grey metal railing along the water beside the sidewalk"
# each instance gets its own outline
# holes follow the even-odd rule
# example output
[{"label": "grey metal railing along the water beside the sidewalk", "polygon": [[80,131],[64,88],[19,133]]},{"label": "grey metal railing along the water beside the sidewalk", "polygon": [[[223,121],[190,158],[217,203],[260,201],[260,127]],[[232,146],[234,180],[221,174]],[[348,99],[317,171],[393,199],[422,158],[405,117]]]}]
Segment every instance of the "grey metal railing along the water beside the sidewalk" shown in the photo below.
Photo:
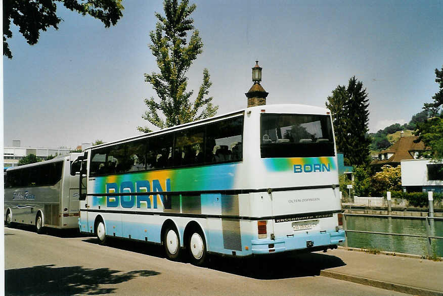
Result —
[{"label": "grey metal railing along the water beside the sidewalk", "polygon": [[[347,228],[346,216],[364,216],[364,217],[377,217],[377,218],[389,218],[390,217],[390,218],[398,218],[398,219],[425,219],[426,220],[426,235],[346,229]],[[382,235],[392,235],[392,236],[419,237],[419,238],[426,238],[427,253],[428,253],[428,256],[432,256],[433,254],[432,254],[431,239],[443,239],[442,236],[434,236],[434,235],[431,235],[431,233],[430,233],[431,227],[429,227],[429,225],[430,225],[430,223],[433,223],[434,220],[443,220],[443,217],[394,216],[394,215],[346,214],[346,213],[343,213],[343,230],[346,233],[345,246],[347,246],[347,233],[348,232],[382,234]]]}]

